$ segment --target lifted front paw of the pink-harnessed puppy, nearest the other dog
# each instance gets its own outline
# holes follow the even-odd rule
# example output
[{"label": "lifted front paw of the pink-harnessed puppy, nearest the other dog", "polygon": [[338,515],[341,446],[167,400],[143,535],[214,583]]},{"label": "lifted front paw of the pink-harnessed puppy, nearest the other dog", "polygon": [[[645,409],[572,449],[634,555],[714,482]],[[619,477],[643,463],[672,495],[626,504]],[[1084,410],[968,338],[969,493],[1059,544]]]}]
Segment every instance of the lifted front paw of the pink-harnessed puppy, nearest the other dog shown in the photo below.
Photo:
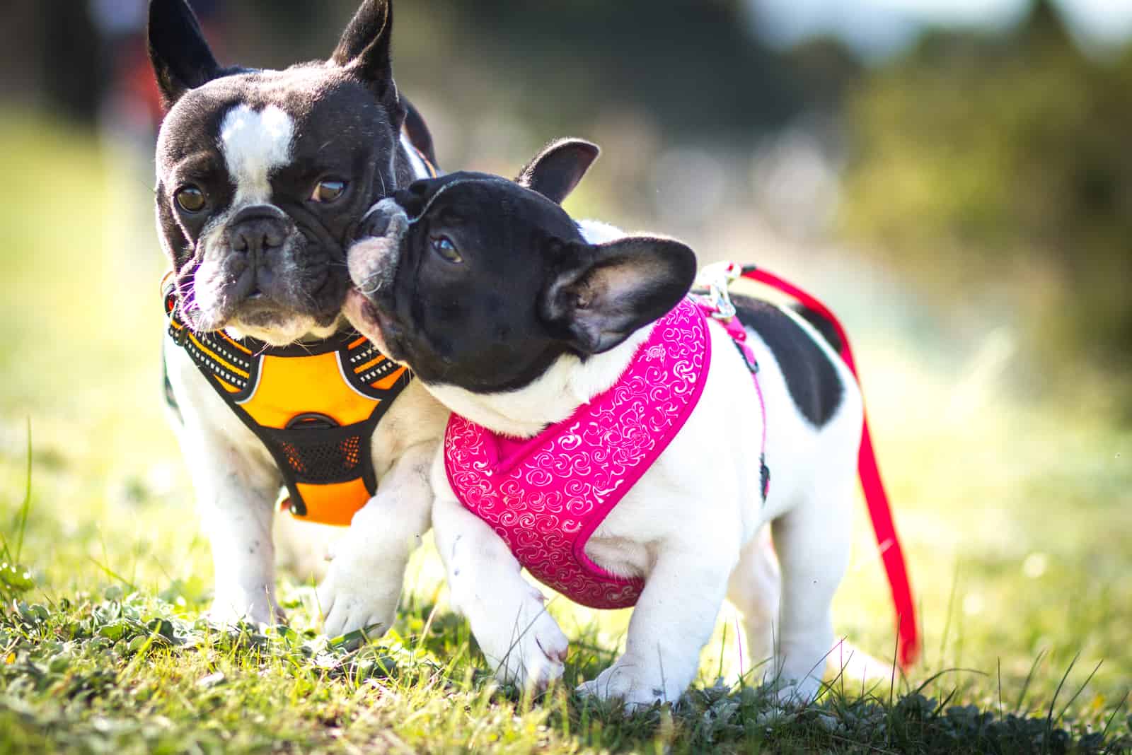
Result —
[{"label": "lifted front paw of the pink-harnessed puppy, nearest the other dog", "polygon": [[503,684],[541,692],[566,670],[569,641],[540,599],[528,601],[513,626],[500,624],[496,635],[484,640],[480,648]]}]

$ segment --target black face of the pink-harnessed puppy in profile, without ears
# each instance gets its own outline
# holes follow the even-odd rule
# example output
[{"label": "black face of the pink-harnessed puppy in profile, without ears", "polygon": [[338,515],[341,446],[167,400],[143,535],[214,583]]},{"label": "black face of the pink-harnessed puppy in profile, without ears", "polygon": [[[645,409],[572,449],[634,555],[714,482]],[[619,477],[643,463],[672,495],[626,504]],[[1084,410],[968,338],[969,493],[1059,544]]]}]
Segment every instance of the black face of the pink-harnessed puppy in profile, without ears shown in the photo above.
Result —
[{"label": "black face of the pink-harnessed puppy in profile, without ears", "polygon": [[585,244],[555,202],[454,173],[396,192],[368,225],[350,252],[345,313],[426,383],[513,390],[569,350],[541,295]]}]

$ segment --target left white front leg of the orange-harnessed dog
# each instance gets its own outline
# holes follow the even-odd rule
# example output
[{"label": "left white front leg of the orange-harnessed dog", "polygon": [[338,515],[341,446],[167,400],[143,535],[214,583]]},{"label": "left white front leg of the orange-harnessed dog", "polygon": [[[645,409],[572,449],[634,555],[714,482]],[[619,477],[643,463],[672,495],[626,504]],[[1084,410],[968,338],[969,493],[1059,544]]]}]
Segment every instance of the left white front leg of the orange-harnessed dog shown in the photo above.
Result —
[{"label": "left white front leg of the orange-harnessed dog", "polygon": [[277,472],[252,462],[216,434],[185,427],[181,441],[212,546],[216,590],[211,618],[225,624],[243,618],[261,624],[282,621],[272,540]]}]

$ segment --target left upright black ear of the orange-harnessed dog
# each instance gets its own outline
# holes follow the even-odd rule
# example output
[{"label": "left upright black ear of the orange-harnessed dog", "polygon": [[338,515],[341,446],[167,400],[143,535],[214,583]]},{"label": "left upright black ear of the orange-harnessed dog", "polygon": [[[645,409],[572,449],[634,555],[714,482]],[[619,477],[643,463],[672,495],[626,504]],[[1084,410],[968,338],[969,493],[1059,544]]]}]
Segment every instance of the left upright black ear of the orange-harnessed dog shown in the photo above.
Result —
[{"label": "left upright black ear of the orange-harnessed dog", "polygon": [[200,24],[186,0],[151,0],[149,62],[166,109],[189,89],[221,76]]}]

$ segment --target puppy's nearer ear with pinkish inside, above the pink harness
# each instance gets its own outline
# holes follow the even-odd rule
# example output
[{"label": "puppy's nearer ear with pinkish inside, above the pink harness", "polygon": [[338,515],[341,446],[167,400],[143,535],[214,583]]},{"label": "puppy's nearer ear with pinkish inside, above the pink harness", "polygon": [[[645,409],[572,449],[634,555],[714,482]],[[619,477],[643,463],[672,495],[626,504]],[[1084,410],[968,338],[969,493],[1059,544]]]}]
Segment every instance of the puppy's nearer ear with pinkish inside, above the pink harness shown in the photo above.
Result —
[{"label": "puppy's nearer ear with pinkish inside, above the pink harness", "polygon": [[696,277],[696,254],[672,238],[626,236],[569,244],[541,314],[581,354],[601,354],[664,316]]}]

